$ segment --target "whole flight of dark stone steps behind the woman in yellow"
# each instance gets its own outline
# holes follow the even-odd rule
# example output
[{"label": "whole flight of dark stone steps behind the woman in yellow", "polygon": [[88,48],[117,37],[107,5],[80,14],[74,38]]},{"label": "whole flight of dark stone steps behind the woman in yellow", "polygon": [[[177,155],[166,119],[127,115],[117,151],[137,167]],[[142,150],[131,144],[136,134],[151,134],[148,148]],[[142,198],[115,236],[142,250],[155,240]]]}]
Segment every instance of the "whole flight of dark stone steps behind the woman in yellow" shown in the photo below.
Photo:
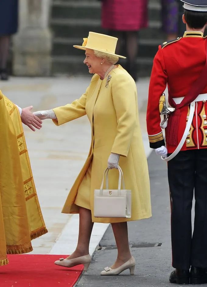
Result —
[{"label": "whole flight of dark stone steps behind the woman in yellow", "polygon": [[[149,0],[149,27],[139,32],[139,76],[149,76],[158,45],[164,42],[161,32],[160,1]],[[53,74],[88,74],[84,55],[72,45],[82,45],[89,31],[107,34],[101,28],[101,2],[97,0],[53,0],[51,30],[53,32]],[[124,54],[124,53],[123,53]],[[120,60],[120,63],[124,63]]]}]

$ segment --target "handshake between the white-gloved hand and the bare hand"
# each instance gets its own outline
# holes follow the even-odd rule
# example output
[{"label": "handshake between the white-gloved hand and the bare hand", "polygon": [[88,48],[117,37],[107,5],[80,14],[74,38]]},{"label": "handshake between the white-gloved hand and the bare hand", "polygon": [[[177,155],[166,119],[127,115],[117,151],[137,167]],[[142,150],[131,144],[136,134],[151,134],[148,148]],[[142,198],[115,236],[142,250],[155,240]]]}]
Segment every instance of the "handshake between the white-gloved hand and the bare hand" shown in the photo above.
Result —
[{"label": "handshake between the white-gloved hand and the bare hand", "polygon": [[32,113],[32,108],[33,106],[23,109],[18,107],[23,124],[27,125],[33,132],[35,132],[35,128],[41,129],[42,120],[45,120],[46,118],[57,119],[53,110],[37,111]]}]

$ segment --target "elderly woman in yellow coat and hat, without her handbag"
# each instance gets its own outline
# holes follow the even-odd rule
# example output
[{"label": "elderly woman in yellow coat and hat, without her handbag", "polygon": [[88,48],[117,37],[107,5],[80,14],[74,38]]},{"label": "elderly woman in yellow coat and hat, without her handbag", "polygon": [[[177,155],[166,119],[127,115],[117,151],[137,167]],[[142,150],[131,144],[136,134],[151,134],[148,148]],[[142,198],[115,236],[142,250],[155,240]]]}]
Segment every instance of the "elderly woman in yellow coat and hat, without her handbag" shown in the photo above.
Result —
[{"label": "elderly woman in yellow coat and hat, without her handbag", "polygon": [[[73,184],[65,202],[63,213],[79,213],[79,238],[75,251],[55,264],[72,267],[84,264],[87,269],[91,257],[89,241],[93,222],[111,223],[118,257],[115,263],[101,275],[119,274],[126,269],[134,273],[135,260],[128,243],[127,221],[151,216],[149,174],[139,127],[137,89],[132,77],[120,65],[115,54],[117,38],[89,32],[82,46],[84,64],[93,73],[86,92],[72,104],[53,110],[37,111],[41,119],[52,118],[62,125],[87,114],[91,124],[92,142],[88,158]],[[94,217],[94,190],[99,189],[103,172],[108,168],[110,188],[118,184],[117,165],[120,165],[126,188],[132,190],[131,218]]]}]

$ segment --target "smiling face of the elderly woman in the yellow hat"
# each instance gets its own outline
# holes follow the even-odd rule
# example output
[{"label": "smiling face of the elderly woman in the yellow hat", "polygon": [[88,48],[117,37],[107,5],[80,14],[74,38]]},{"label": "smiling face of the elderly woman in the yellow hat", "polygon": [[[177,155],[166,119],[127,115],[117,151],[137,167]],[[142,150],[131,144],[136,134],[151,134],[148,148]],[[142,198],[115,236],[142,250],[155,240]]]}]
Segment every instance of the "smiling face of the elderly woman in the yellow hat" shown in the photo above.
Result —
[{"label": "smiling face of the elderly woman in the yellow hat", "polygon": [[88,66],[90,74],[99,74],[101,68],[101,58],[96,57],[93,50],[86,49],[86,58],[83,61]]}]

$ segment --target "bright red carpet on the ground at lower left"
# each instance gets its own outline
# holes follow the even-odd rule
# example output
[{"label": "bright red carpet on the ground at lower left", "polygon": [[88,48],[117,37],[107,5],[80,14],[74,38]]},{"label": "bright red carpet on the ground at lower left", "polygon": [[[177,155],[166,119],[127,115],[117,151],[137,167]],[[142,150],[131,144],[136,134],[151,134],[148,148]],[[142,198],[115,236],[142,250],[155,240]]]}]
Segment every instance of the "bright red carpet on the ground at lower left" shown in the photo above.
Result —
[{"label": "bright red carpet on the ground at lower left", "polygon": [[0,267],[0,287],[72,287],[83,265],[54,265],[62,257],[67,255],[8,255],[9,264]]}]

